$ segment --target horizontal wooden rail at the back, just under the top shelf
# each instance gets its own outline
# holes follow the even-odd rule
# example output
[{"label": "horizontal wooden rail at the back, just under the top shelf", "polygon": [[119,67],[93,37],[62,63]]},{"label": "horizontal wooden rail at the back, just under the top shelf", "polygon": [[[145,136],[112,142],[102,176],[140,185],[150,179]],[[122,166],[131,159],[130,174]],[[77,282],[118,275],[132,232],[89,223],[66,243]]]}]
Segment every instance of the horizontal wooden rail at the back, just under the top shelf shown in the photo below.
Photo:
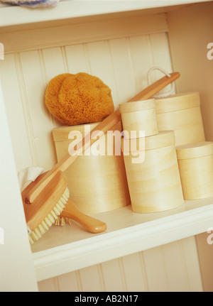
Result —
[{"label": "horizontal wooden rail at the back, just under the top shelf", "polygon": [[[1,13],[1,11],[0,11]],[[119,21],[118,21],[119,20]],[[126,23],[126,21],[128,23]],[[130,26],[130,24],[131,26]],[[52,35],[53,27],[55,29]],[[17,29],[16,29],[17,30]],[[95,41],[112,40],[114,38],[127,38],[151,33],[165,33],[168,31],[165,14],[157,16],[128,16],[101,21],[83,21],[82,23],[68,22],[63,26],[45,26],[38,29],[22,31],[6,31],[1,28],[0,40],[6,45],[5,53],[26,52],[40,48],[62,47],[72,44],[85,44]],[[70,35],[72,33],[72,35]],[[131,96],[130,96],[131,97]]]}]

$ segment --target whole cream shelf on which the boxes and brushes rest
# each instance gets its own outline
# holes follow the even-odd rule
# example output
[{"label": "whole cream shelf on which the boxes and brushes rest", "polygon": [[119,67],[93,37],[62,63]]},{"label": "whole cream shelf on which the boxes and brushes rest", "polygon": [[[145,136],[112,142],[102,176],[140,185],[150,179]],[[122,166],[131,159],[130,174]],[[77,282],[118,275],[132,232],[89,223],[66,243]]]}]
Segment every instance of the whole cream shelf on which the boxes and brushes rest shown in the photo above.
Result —
[{"label": "whole cream shelf on which the boxes and brushes rest", "polygon": [[75,222],[52,226],[32,246],[38,281],[205,232],[213,226],[213,197],[167,212],[136,214],[129,205],[94,217],[107,231],[90,234]]}]

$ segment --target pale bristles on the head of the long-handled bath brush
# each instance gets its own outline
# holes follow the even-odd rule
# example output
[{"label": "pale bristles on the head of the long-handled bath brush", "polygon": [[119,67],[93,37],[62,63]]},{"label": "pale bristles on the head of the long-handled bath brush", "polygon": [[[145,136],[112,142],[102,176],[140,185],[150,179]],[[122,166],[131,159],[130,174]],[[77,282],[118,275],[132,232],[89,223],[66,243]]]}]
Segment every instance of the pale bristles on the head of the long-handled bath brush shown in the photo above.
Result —
[{"label": "pale bristles on the head of the long-handled bath brush", "polygon": [[58,219],[60,216],[62,210],[65,208],[65,204],[67,204],[67,201],[70,197],[70,192],[68,188],[65,189],[65,192],[63,193],[62,197],[60,197],[60,200],[57,204],[55,204],[55,207],[51,210],[51,212],[45,217],[43,222],[38,224],[33,231],[31,231],[29,236],[29,240],[31,244],[34,244],[35,241],[38,241],[40,237],[45,234],[46,231],[55,224],[55,220]]}]

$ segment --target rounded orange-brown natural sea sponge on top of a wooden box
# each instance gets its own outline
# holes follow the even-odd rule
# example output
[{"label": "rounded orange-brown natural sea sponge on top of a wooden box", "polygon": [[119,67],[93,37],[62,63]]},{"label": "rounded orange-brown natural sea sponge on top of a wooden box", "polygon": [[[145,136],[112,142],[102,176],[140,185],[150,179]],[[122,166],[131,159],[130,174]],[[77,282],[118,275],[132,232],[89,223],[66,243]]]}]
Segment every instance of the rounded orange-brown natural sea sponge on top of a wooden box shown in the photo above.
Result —
[{"label": "rounded orange-brown natural sea sponge on top of a wooden box", "polygon": [[70,126],[102,121],[114,111],[111,89],[84,72],[64,73],[50,80],[45,104],[53,116]]}]

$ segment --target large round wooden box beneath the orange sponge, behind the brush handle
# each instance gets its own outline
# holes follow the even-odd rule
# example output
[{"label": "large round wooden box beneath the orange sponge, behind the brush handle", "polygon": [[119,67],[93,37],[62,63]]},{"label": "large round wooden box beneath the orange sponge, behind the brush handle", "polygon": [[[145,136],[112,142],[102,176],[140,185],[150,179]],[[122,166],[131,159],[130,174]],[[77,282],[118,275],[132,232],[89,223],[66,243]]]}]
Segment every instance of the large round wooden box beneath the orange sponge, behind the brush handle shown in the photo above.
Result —
[{"label": "large round wooden box beneath the orange sponge, behind the brush handle", "polygon": [[[62,126],[53,129],[58,161],[67,154],[72,141],[77,142],[76,138],[74,139],[75,133],[82,135],[82,138],[84,138],[97,124]],[[118,130],[121,131],[121,124],[118,126]],[[130,204],[122,152],[120,155],[114,153],[114,155],[107,155],[107,136],[105,134],[102,137],[106,145],[104,152],[103,150],[102,152],[96,152],[96,149],[99,148],[97,142],[95,142],[65,171],[71,199],[78,209],[87,214],[106,212]],[[115,152],[115,144],[114,141],[111,145],[113,146],[113,152]],[[120,146],[120,143],[117,143],[117,146]],[[96,153],[102,155],[95,155]]]}]

